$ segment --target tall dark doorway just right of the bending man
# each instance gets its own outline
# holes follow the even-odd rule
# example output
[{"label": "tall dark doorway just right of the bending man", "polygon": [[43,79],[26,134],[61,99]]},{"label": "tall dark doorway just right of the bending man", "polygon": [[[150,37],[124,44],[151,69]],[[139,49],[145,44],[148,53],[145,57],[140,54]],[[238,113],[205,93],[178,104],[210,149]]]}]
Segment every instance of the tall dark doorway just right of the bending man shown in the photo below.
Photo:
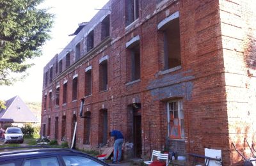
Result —
[{"label": "tall dark doorway just right of the bending man", "polygon": [[141,109],[140,103],[133,105],[133,143],[134,156],[141,158]]}]

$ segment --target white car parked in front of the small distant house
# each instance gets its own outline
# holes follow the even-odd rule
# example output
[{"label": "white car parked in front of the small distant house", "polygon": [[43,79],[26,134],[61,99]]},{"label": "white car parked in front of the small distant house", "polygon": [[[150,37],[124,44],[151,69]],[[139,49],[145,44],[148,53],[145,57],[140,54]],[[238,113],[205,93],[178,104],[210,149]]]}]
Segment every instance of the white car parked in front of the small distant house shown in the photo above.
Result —
[{"label": "white car parked in front of the small distant house", "polygon": [[23,143],[23,133],[21,132],[20,128],[18,127],[9,127],[6,128],[4,133],[4,144],[8,142],[19,142]]}]

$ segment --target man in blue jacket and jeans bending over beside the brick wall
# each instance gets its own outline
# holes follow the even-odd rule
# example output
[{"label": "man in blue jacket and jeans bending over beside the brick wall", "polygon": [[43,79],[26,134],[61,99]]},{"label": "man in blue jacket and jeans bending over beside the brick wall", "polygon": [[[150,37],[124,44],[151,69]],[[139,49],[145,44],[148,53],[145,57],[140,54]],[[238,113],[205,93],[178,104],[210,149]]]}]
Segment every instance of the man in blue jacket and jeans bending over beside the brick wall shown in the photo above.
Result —
[{"label": "man in blue jacket and jeans bending over beside the brick wall", "polygon": [[[112,132],[109,133],[109,135],[110,137],[115,138],[113,163],[118,163],[120,162],[122,157],[122,144],[124,142],[124,136],[118,130],[113,130]],[[118,150],[118,158],[116,161],[117,150]]]}]

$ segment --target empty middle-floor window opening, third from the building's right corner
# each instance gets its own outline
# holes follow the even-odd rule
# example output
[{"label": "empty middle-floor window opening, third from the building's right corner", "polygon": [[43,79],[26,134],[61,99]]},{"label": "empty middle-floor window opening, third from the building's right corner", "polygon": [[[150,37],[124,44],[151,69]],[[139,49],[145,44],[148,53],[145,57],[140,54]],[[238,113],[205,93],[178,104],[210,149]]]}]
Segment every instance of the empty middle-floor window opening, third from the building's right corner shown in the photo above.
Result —
[{"label": "empty middle-floor window opening, third from the building's right corner", "polygon": [[100,91],[108,89],[108,60],[100,63],[99,86]]}]

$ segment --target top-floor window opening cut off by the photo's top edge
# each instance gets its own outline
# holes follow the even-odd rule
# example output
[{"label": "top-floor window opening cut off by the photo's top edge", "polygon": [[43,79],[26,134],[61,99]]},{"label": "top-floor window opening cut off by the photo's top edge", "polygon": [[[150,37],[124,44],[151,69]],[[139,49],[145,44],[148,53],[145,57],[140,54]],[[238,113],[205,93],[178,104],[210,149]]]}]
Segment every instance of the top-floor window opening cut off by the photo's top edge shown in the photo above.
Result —
[{"label": "top-floor window opening cut off by the photo's top edge", "polygon": [[139,18],[139,0],[125,0],[125,4],[125,26],[128,26]]}]

